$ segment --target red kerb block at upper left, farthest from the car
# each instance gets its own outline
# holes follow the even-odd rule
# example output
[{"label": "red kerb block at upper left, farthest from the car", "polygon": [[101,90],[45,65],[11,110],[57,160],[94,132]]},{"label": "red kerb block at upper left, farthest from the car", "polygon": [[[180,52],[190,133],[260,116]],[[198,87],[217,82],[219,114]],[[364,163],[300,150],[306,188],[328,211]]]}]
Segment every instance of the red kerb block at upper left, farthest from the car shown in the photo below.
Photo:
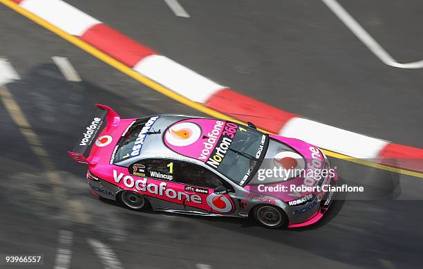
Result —
[{"label": "red kerb block at upper left, farthest from the car", "polygon": [[80,38],[129,67],[135,66],[144,57],[157,54],[105,24],[89,28]]}]

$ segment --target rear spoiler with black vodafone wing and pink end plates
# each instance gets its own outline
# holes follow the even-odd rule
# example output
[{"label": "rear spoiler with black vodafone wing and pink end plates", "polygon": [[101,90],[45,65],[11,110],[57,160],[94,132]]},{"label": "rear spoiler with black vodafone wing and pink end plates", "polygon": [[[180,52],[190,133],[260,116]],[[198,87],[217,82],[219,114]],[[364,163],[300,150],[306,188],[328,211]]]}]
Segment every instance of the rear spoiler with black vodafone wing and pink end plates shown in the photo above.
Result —
[{"label": "rear spoiler with black vodafone wing and pink end plates", "polygon": [[79,137],[79,140],[72,151],[68,151],[68,155],[73,158],[77,163],[84,163],[94,165],[98,162],[98,157],[86,158],[88,149],[91,148],[91,144],[100,134],[100,130],[104,127],[104,120],[106,120],[106,126],[117,127],[120,124],[120,117],[109,106],[104,104],[95,104],[97,106],[93,115],[89,118],[84,133]]}]

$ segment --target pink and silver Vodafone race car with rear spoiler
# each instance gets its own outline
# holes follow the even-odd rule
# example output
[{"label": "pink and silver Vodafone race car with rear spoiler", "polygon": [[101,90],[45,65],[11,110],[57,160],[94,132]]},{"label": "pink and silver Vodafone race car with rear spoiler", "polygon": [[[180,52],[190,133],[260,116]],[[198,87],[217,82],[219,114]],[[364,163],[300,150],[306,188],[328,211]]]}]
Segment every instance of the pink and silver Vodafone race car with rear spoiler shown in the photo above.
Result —
[{"label": "pink and silver Vodafone race car with rear spoiler", "polygon": [[[132,210],[254,217],[267,228],[316,223],[335,196],[324,186],[338,182],[318,147],[263,133],[251,122],[121,119],[104,104],[96,104],[68,154],[88,165],[93,194]],[[331,173],[319,178],[318,169]]]}]

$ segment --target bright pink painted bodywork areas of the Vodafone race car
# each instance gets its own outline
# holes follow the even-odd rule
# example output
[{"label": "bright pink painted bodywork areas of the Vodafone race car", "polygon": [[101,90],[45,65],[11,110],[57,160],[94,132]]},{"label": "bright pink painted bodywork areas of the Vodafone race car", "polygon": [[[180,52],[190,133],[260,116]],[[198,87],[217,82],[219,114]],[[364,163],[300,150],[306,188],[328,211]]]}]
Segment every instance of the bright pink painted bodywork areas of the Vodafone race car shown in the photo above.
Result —
[{"label": "bright pink painted bodywork areas of the Vodafone race car", "polygon": [[[214,214],[227,215],[236,215],[238,213],[237,210],[239,210],[238,207],[243,206],[243,203],[246,204],[249,201],[254,201],[254,203],[258,203],[258,201],[260,201],[261,203],[265,202],[272,204],[281,203],[277,201],[283,201],[283,203],[288,203],[289,201],[293,201],[299,197],[303,197],[307,194],[310,194],[310,192],[299,192],[295,195],[292,195],[292,193],[290,192],[263,192],[259,190],[259,185],[254,184],[249,184],[241,187],[240,196],[238,196],[238,194],[237,196],[234,196],[234,194],[231,195],[227,193],[215,194],[214,189],[212,188],[204,187],[202,192],[198,192],[192,190],[192,188],[190,188],[190,186],[187,186],[186,184],[171,181],[167,181],[164,183],[163,180],[147,178],[145,176],[135,176],[134,174],[130,174],[128,167],[114,165],[113,157],[115,155],[116,149],[118,148],[118,142],[123,136],[122,134],[125,134],[126,131],[128,131],[129,127],[131,127],[131,125],[133,124],[133,122],[135,122],[135,120],[137,120],[137,118],[120,119],[118,114],[115,113],[115,111],[113,111],[111,108],[109,108],[109,106],[97,104],[97,107],[106,111],[105,118],[107,124],[99,134],[93,132],[91,132],[93,133],[92,135],[88,132],[84,133],[86,140],[91,139],[91,142],[94,142],[93,138],[97,137],[91,147],[91,151],[89,152],[88,157],[84,156],[84,152],[79,152],[76,150],[68,151],[68,154],[77,162],[88,164],[88,171],[90,173],[95,174],[95,176],[97,176],[98,178],[102,178],[102,180],[106,180],[106,182],[111,183],[115,187],[118,187],[118,189],[131,190],[132,192],[137,192],[144,196],[158,198],[160,200],[168,201],[178,205],[185,205],[188,207],[198,208],[200,210],[212,212]],[[94,124],[95,122],[92,123]],[[194,127],[194,135],[191,135],[200,137],[203,136],[203,134],[207,134],[209,138],[214,139],[209,140],[209,142],[212,144],[216,144],[214,142],[218,141],[220,136],[222,136],[222,134],[225,132],[225,129],[223,128],[216,128],[216,124],[218,126],[224,126],[225,124],[227,124],[225,120],[213,120],[203,118],[189,118],[187,120],[180,120],[176,124],[181,123],[196,125],[198,127],[199,133],[196,133],[197,127]],[[93,124],[91,124],[91,127],[93,127]],[[229,122],[229,124],[233,123]],[[171,125],[169,129],[171,129],[173,125]],[[90,130],[89,128],[90,127],[87,127],[88,131]],[[182,156],[194,158],[196,160],[201,160],[205,162],[205,160],[209,158],[210,154],[213,151],[213,148],[204,150],[205,146],[203,145],[203,140],[199,140],[198,138],[198,141],[191,142],[185,147],[184,145],[175,144],[172,138],[167,138],[166,135],[167,134],[164,134],[163,138],[164,144],[169,149],[172,149],[173,151],[177,152],[178,154],[181,154]],[[273,138],[274,140],[278,140],[286,145],[289,145],[295,151],[301,154],[301,156],[303,156],[303,158],[307,160],[304,164],[304,168],[306,169],[306,171],[312,169],[321,169],[325,167],[325,165],[327,165],[326,158],[323,156],[323,154],[321,154],[321,151],[319,151],[319,149],[313,145],[310,145],[301,140],[297,140],[294,138],[285,138],[282,136],[270,135],[270,138]],[[84,138],[82,139],[84,140]],[[84,143],[81,142],[81,144]],[[215,146],[216,145],[213,145],[213,147]],[[203,158],[205,158],[205,160],[202,160]],[[308,162],[308,160],[310,160],[310,162]],[[329,178],[328,183],[330,183],[330,180],[331,179]],[[337,174],[335,174],[332,180],[337,182]],[[310,182],[310,178],[306,179],[297,177],[282,183],[267,183],[266,186],[315,186],[317,184],[319,184],[319,182]],[[93,186],[91,187],[93,188]],[[100,196],[97,190],[92,190],[92,192],[95,195]],[[317,193],[312,192],[312,194],[315,195],[315,201],[317,201],[314,203],[321,203],[323,197],[328,196],[328,193],[323,191]],[[234,203],[237,198],[238,203],[240,203],[240,205],[236,205]],[[283,204],[283,206],[286,208],[286,204]],[[320,206],[317,210],[314,210],[313,212],[310,211],[305,221],[299,223],[289,223],[288,227],[296,228],[316,223],[317,221],[319,221],[319,219],[321,219],[321,217],[323,216],[323,212],[325,212],[327,209],[327,207]],[[292,214],[294,214],[294,210],[299,210],[299,207],[292,207]]]}]

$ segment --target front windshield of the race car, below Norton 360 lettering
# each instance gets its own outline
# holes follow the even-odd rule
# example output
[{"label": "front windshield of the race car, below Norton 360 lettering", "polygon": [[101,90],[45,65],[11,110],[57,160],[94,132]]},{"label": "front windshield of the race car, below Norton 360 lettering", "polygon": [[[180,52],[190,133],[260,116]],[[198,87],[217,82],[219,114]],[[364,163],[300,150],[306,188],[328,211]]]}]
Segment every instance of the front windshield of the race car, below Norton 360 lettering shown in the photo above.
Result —
[{"label": "front windshield of the race car, below Norton 360 lettering", "polygon": [[260,167],[267,145],[266,134],[250,127],[238,127],[217,170],[234,183],[245,185]]}]

